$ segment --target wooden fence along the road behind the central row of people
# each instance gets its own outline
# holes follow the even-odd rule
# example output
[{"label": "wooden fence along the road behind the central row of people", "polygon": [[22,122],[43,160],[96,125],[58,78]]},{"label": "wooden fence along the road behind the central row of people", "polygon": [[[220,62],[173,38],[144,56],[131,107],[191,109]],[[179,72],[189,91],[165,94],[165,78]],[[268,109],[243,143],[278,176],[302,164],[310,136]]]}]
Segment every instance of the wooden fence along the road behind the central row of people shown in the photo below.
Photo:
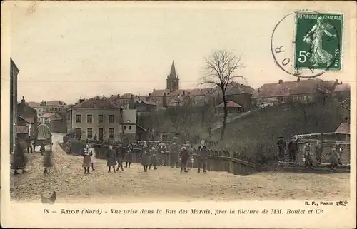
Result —
[{"label": "wooden fence along the road behind the central row of people", "polygon": [[[64,147],[64,146],[63,146]],[[71,141],[71,148],[65,148],[65,151],[74,155],[81,155],[81,150],[83,149],[83,143],[81,141]],[[93,144],[93,148],[96,151],[96,158],[106,159],[106,153],[109,150],[109,146],[102,144]],[[113,147],[114,150],[116,146]],[[141,149],[134,148],[132,154],[131,162],[132,163],[141,163],[140,160]],[[193,153],[194,162],[191,165],[192,168],[198,168],[197,165],[197,154]],[[165,152],[162,155],[161,160],[164,165],[171,166],[171,156],[169,152]],[[208,160],[207,160],[207,169],[208,171],[222,171],[233,173],[234,175],[249,175],[255,173],[255,164],[250,158],[242,156],[239,153],[231,153],[228,151],[216,151],[208,150]]]}]

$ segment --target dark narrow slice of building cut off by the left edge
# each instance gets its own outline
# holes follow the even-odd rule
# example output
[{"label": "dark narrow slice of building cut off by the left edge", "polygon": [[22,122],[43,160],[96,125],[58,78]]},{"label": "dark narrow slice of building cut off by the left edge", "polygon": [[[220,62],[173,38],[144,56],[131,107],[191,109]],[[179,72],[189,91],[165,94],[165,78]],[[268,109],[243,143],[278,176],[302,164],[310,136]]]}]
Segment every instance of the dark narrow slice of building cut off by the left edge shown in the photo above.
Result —
[{"label": "dark narrow slice of building cut off by the left edge", "polygon": [[17,136],[17,75],[19,68],[10,58],[10,153],[15,151]]}]

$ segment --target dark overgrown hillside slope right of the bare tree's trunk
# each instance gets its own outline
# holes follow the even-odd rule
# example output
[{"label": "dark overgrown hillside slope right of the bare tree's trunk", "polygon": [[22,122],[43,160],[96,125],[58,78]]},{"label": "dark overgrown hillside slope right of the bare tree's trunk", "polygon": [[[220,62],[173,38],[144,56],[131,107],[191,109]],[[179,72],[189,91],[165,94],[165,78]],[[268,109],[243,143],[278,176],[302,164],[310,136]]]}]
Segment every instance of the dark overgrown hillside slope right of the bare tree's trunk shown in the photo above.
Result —
[{"label": "dark overgrown hillside slope right of the bare tree's trunk", "polygon": [[[271,106],[228,123],[222,147],[255,155],[258,163],[264,163],[272,159],[278,136],[288,139],[295,134],[334,132],[346,116],[349,112],[337,101]],[[219,139],[220,131],[215,131],[213,138]]]}]

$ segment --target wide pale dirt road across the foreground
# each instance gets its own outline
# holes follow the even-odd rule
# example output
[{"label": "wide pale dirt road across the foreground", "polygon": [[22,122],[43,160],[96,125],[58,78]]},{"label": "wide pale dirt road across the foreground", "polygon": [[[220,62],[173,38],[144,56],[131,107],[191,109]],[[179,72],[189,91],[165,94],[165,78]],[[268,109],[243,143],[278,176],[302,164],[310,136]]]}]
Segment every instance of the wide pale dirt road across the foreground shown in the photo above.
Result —
[{"label": "wide pale dirt road across the foreground", "polygon": [[349,197],[348,174],[180,173],[178,168],[159,167],[144,173],[139,164],[108,173],[106,161],[96,160],[95,171],[84,174],[82,158],[69,156],[54,134],[54,167],[43,174],[41,153],[30,155],[29,173],[11,175],[12,200],[39,202],[41,193],[58,193],[57,203],[120,203],[149,200],[341,200]]}]

